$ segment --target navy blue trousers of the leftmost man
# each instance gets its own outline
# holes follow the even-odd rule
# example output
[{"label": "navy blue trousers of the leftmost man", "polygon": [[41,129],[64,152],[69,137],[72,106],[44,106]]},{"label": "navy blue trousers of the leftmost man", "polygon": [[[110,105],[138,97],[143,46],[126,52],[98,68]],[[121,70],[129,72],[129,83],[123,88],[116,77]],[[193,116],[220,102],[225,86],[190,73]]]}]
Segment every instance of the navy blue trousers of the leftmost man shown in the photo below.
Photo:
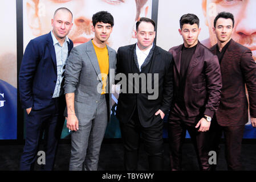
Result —
[{"label": "navy blue trousers of the leftmost man", "polygon": [[45,164],[41,169],[51,171],[54,167],[58,140],[64,124],[64,97],[52,98],[51,104],[44,109],[31,110],[26,119],[26,140],[21,156],[20,170],[34,169],[39,141],[44,131]]}]

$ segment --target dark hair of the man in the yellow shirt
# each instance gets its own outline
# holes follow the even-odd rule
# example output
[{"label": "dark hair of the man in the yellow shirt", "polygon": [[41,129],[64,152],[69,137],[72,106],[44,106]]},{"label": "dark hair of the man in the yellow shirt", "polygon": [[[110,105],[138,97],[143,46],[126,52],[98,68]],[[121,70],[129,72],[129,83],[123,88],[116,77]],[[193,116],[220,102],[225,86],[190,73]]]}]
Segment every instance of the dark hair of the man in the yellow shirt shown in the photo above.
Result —
[{"label": "dark hair of the man in the yellow shirt", "polygon": [[92,24],[94,27],[98,22],[109,23],[111,27],[114,26],[114,18],[108,11],[99,11],[92,16]]}]

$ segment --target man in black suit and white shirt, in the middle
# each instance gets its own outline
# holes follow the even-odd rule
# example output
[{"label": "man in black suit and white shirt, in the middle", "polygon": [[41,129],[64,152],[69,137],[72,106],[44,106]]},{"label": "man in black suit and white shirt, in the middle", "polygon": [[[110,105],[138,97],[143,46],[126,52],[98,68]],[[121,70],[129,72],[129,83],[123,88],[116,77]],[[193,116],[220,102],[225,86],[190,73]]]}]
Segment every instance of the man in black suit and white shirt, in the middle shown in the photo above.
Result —
[{"label": "man in black suit and white shirt, in the middle", "polygon": [[117,51],[116,73],[122,77],[122,84],[116,116],[124,140],[124,166],[129,171],[137,169],[141,135],[149,169],[161,170],[162,119],[169,111],[173,94],[172,55],[153,43],[156,36],[153,20],[140,18],[135,35],[136,44]]}]

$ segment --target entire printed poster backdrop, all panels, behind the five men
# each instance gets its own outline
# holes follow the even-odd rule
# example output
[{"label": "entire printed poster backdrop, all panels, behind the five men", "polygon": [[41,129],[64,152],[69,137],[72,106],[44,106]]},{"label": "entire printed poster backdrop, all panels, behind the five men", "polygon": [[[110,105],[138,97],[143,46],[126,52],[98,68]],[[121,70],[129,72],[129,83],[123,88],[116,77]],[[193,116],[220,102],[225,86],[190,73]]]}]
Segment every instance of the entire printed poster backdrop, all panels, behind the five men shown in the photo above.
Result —
[{"label": "entire printed poster backdrop, all panels, behind the five men", "polygon": [[[168,51],[170,47],[182,44],[182,38],[178,33],[179,19],[186,13],[194,13],[200,18],[199,40],[206,47],[213,46],[216,43],[216,38],[212,34],[213,19],[218,12],[229,11],[234,14],[235,18],[235,31],[232,38],[250,48],[256,60],[255,0],[23,0],[23,12],[17,11],[18,15],[16,15],[15,2],[20,1],[22,0],[2,1],[0,7],[2,22],[5,24],[5,28],[0,30],[2,35],[0,43],[0,139],[17,139],[17,60],[21,60],[21,56],[17,59],[17,50],[25,51],[31,39],[51,31],[51,19],[58,7],[67,7],[74,14],[74,26],[68,37],[74,41],[75,46],[94,37],[91,32],[92,15],[100,10],[109,11],[115,19],[115,25],[108,44],[116,51],[120,46],[136,42],[135,23],[141,16],[155,18],[158,46]],[[158,9],[156,9],[157,2]],[[23,27],[16,26],[16,17],[23,17]],[[19,37],[22,36],[19,34],[21,30],[23,39]],[[23,46],[17,44],[17,40],[23,40]],[[115,117],[117,101],[118,95],[112,95],[111,122],[107,126],[105,138],[121,137],[119,121]],[[18,122],[22,121],[23,117],[19,117]],[[166,125],[166,119],[164,122]],[[23,125],[20,126],[23,127]],[[19,128],[19,130],[22,129]],[[69,131],[65,123],[62,138],[68,137]],[[167,137],[166,128],[164,137]],[[246,124],[243,137],[256,139],[256,129],[251,126],[250,119]]]}]

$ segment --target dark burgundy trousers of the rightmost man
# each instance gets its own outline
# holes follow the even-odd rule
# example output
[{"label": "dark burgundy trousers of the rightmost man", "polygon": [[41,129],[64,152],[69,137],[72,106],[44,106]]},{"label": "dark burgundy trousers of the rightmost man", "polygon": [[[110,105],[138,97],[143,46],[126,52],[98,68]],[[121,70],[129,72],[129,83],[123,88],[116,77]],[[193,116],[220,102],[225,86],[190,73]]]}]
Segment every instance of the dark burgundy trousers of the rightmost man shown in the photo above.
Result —
[{"label": "dark burgundy trousers of the rightmost man", "polygon": [[[213,117],[212,126],[210,127],[211,150],[216,151],[217,158],[220,152],[220,140],[224,133],[225,140],[225,158],[227,169],[231,171],[241,171],[243,169],[241,162],[242,138],[245,125],[242,126],[220,126]],[[217,165],[213,165],[215,170]]]}]

